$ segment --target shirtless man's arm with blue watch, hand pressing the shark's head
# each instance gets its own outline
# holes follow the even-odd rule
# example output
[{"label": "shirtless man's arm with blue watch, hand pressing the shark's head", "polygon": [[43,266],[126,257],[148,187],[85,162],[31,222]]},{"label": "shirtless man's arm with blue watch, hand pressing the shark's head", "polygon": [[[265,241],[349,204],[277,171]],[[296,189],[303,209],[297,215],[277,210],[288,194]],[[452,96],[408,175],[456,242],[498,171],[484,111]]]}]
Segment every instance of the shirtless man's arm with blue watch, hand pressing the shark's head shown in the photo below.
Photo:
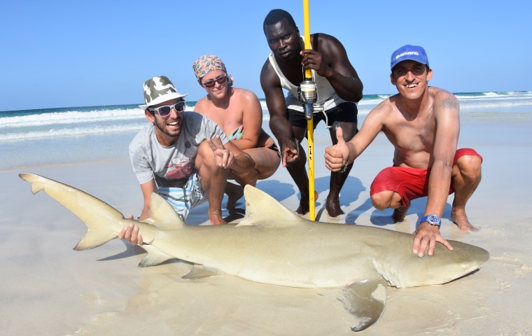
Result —
[{"label": "shirtless man's arm with blue watch, hand pressing the shark's head", "polygon": [[[451,185],[452,165],[458,135],[460,134],[460,107],[458,99],[447,91],[438,92],[434,100],[435,139],[433,146],[433,165],[428,178],[428,197],[425,216],[435,214],[441,218]],[[412,251],[420,257],[428,246],[428,255],[433,255],[437,241],[452,250],[451,244],[443,239],[437,226],[420,223],[414,232]]]}]

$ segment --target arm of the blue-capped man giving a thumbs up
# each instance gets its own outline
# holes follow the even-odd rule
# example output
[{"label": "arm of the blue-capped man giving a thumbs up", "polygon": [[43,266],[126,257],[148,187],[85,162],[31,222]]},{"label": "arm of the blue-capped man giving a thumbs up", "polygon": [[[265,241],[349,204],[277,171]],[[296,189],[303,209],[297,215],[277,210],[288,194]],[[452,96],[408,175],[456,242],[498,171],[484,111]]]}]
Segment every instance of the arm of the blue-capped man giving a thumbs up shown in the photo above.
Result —
[{"label": "arm of the blue-capped man giving a thumbs up", "polygon": [[386,102],[372,109],[367,114],[360,131],[348,142],[344,141],[342,129],[338,127],[336,130],[338,143],[325,148],[325,167],[332,172],[338,172],[358,158],[383,129],[389,109]]}]

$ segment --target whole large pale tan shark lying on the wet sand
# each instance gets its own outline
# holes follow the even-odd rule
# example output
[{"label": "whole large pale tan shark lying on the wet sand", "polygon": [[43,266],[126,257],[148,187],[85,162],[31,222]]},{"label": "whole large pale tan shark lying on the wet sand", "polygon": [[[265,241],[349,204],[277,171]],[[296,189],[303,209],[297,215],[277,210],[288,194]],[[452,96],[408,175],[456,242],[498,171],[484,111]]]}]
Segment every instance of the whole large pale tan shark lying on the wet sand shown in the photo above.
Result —
[{"label": "whole large pale tan shark lying on the wet sand", "polygon": [[454,251],[437,244],[432,256],[419,258],[412,253],[413,235],[309,221],[252,186],[244,188],[246,214],[237,225],[187,225],[155,193],[151,217],[134,221],[82,190],[36,174],[19,176],[31,183],[32,193],[44,190],[85,223],[76,251],[101,246],[134,223],[147,251],[139,267],[177,258],[194,264],[184,279],[228,274],[278,286],[338,288],[337,299],[353,316],[353,331],[383,314],[388,286],[447,283],[489,260],[484,248],[460,241],[450,241]]}]

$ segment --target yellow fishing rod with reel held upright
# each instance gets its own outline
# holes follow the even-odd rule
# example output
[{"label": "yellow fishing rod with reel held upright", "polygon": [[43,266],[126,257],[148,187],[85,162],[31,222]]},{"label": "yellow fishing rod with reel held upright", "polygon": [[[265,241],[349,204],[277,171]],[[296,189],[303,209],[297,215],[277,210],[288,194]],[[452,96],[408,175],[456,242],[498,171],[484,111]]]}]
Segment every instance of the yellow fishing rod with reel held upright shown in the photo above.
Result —
[{"label": "yellow fishing rod with reel held upright", "polygon": [[[303,0],[303,22],[304,22],[304,48],[310,49],[310,18],[309,18],[309,0]],[[316,83],[312,80],[312,71],[304,71],[304,80],[300,84],[300,99],[303,102],[305,117],[307,118],[307,143],[308,143],[308,162],[309,162],[309,219],[314,221],[316,218],[316,200],[314,199],[314,122],[312,113],[314,103],[318,100],[316,92]]]}]

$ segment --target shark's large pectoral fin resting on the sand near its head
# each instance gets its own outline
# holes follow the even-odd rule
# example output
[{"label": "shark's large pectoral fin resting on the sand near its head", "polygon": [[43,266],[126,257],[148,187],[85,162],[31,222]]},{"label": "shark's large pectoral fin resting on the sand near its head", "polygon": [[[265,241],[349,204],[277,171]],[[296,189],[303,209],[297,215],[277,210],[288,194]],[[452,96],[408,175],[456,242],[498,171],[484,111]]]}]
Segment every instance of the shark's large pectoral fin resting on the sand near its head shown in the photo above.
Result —
[{"label": "shark's large pectoral fin resting on the sand near its head", "polygon": [[377,322],[386,305],[387,286],[388,281],[379,277],[351,283],[342,290],[338,300],[358,323],[351,330],[364,330]]}]

